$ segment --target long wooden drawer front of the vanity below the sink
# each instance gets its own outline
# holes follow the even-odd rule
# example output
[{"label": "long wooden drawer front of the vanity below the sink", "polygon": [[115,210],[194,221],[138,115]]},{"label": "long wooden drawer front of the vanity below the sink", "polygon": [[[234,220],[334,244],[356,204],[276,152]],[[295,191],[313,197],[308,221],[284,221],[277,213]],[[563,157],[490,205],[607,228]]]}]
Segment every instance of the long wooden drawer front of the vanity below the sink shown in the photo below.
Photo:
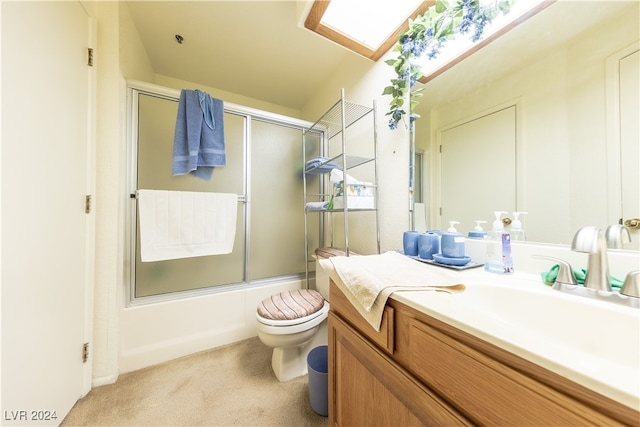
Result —
[{"label": "long wooden drawer front of the vanity below the sink", "polygon": [[619,425],[417,319],[409,342],[410,370],[475,423]]}]

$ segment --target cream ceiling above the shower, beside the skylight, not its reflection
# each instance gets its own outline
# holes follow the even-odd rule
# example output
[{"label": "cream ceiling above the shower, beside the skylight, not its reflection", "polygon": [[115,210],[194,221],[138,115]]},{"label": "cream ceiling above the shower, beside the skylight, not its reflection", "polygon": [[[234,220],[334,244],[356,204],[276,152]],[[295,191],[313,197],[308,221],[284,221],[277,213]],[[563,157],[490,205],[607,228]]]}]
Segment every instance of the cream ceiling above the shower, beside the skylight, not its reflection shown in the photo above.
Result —
[{"label": "cream ceiling above the shower, beside the skylight, not its reflection", "polygon": [[127,2],[156,73],[301,109],[356,54],[299,27],[298,3]]}]

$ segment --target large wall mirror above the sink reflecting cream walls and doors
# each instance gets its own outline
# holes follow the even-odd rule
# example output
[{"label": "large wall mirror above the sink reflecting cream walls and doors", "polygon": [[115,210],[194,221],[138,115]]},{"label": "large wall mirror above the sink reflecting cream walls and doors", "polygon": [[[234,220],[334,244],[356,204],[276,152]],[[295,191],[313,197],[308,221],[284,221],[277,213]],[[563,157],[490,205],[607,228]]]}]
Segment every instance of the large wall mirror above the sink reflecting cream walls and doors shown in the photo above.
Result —
[{"label": "large wall mirror above the sink reflecting cream walls and doors", "polygon": [[[570,244],[583,226],[640,218],[638,6],[560,0],[424,85],[429,227],[457,220],[466,234],[474,220],[489,229],[493,211],[525,211],[528,241]],[[504,112],[488,138],[482,120]],[[443,158],[458,134],[469,145]],[[448,187],[451,176],[463,182]],[[624,249],[639,242],[632,230]]]}]

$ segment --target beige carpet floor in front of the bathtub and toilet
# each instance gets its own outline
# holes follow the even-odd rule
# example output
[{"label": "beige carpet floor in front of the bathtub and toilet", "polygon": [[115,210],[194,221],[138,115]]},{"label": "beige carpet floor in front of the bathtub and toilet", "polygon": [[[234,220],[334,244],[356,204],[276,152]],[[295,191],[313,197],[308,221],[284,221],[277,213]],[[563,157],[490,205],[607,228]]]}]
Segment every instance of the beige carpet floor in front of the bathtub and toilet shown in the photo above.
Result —
[{"label": "beige carpet floor in front of the bathtub and toilet", "polygon": [[280,383],[258,338],[120,376],[79,400],[63,426],[327,425],[307,376]]}]

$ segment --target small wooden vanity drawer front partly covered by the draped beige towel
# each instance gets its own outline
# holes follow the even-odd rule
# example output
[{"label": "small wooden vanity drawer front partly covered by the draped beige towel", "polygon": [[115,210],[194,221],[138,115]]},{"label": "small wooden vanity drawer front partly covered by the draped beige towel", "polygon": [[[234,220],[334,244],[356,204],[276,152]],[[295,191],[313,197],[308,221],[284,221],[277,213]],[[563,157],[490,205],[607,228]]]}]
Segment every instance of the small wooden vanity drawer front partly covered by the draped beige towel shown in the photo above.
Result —
[{"label": "small wooden vanity drawer front partly covered by the draped beige towel", "polygon": [[380,331],[376,331],[364,317],[358,313],[355,307],[347,299],[344,293],[336,286],[333,280],[329,287],[329,300],[331,311],[337,313],[353,326],[362,335],[373,341],[389,354],[393,354],[394,342],[394,309],[386,306],[382,314]]}]

